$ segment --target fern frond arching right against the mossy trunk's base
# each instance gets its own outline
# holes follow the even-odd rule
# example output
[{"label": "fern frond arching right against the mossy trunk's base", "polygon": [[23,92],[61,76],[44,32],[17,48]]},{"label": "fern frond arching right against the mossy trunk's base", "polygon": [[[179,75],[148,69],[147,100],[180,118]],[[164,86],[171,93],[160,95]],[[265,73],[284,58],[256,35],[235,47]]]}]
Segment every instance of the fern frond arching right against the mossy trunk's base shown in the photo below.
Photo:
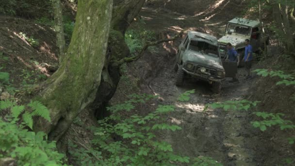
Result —
[{"label": "fern frond arching right against the mossy trunk's base", "polygon": [[33,109],[32,116],[41,116],[50,122],[49,110],[40,101],[31,101],[28,106]]}]

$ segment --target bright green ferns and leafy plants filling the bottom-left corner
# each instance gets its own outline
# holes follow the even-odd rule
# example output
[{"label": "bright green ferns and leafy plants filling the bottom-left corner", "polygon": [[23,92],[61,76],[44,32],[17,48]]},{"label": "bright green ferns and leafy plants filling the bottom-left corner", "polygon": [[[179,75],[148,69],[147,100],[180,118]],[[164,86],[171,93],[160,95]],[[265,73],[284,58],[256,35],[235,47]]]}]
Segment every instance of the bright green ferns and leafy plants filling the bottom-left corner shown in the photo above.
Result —
[{"label": "bright green ferns and leafy plants filling the bottom-left corner", "polygon": [[0,159],[13,158],[18,166],[62,166],[65,155],[56,150],[55,142],[47,141],[47,134],[34,133],[33,116],[50,121],[48,109],[38,101],[16,105],[0,101]]}]

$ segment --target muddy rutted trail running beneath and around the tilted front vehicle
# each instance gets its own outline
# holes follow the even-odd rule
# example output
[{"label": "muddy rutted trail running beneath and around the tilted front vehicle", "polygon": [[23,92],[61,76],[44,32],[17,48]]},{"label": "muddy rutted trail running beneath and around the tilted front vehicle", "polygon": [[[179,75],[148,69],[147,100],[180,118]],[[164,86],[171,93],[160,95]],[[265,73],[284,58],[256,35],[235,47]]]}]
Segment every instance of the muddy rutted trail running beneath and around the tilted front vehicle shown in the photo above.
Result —
[{"label": "muddy rutted trail running beneath and around the tilted front vehicle", "polygon": [[[170,33],[184,28],[216,36],[223,33],[221,30],[225,26],[225,23],[220,23],[208,27],[196,17],[186,17],[183,21],[179,19],[179,13],[152,8],[144,8],[141,17],[146,19],[147,28],[163,31],[168,37],[171,36]],[[181,26],[175,26],[179,25],[178,23],[182,23]],[[210,21],[207,23],[210,24]],[[176,111],[169,115],[167,121],[179,125],[182,130],[161,133],[160,137],[172,144],[176,154],[191,158],[200,155],[213,157],[225,166],[257,165],[253,157],[255,149],[251,148],[251,142],[256,137],[247,131],[251,127],[247,120],[249,113],[225,112],[218,109],[203,112],[207,103],[245,99],[255,78],[246,80],[246,71],[240,68],[240,82],[229,83],[231,79],[227,79],[223,82],[222,93],[218,95],[213,94],[208,83],[196,80],[186,80],[183,86],[178,87],[175,85],[176,72],[173,66],[179,43],[180,40],[164,43],[159,46],[158,53],[146,52],[141,60],[129,66],[131,71],[140,70],[139,73],[132,72],[132,75],[143,82],[143,92],[159,95],[163,99],[161,104],[176,106]],[[180,94],[192,89],[196,92],[191,95],[190,101],[177,101]]]}]

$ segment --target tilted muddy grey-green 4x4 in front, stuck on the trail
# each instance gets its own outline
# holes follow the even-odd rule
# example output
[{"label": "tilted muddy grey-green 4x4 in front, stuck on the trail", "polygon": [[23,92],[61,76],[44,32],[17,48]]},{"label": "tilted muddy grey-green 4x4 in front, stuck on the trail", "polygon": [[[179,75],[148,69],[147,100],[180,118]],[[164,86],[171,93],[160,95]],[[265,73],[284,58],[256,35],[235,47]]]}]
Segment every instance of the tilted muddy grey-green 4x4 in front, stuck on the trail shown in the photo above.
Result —
[{"label": "tilted muddy grey-green 4x4 in front, stuck on the trail", "polygon": [[225,70],[218,53],[216,37],[209,34],[189,31],[182,40],[176,54],[176,85],[183,84],[186,77],[208,81],[213,90],[221,90],[221,81],[225,78]]}]

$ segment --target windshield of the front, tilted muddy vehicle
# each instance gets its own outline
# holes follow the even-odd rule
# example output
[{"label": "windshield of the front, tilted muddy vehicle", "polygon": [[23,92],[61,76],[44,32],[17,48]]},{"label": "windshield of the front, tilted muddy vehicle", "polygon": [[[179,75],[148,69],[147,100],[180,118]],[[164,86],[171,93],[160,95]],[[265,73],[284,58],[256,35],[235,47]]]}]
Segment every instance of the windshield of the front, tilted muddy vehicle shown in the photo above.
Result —
[{"label": "windshield of the front, tilted muddy vehicle", "polygon": [[188,50],[193,50],[214,57],[218,57],[217,49],[217,46],[197,40],[191,40],[190,45],[188,46]]}]

